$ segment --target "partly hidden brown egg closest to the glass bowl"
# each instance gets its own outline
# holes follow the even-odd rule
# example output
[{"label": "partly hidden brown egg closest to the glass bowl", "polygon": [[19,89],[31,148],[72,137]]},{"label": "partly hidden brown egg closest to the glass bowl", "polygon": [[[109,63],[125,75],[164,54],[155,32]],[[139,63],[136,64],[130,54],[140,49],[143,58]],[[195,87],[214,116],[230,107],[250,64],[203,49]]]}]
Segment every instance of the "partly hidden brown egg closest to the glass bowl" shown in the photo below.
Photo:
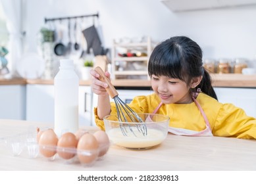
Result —
[{"label": "partly hidden brown egg closest to the glass bowl", "polygon": [[110,145],[109,136],[103,130],[95,131],[93,135],[99,143],[99,156],[103,156],[109,150],[109,145]]}]

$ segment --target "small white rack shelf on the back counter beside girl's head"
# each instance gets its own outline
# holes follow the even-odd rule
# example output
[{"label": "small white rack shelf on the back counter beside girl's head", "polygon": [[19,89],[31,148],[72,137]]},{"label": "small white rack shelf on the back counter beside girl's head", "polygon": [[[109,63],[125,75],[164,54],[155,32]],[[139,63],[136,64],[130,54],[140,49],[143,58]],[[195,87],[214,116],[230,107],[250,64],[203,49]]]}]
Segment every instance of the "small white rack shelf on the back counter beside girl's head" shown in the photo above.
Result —
[{"label": "small white rack shelf on the back counter beside girl's head", "polygon": [[[111,76],[115,79],[128,78],[128,76],[146,76],[149,79],[147,72],[147,63],[149,56],[153,50],[154,44],[150,37],[146,41],[138,43],[116,43],[113,41],[112,59],[111,59]],[[120,57],[118,56],[118,49],[124,51],[136,51],[145,53],[142,57]],[[132,52],[134,53],[134,52]],[[137,62],[134,64],[134,62]],[[122,65],[122,66],[121,66]],[[132,66],[134,68],[122,68],[123,66]],[[136,70],[137,66],[137,70]]]}]

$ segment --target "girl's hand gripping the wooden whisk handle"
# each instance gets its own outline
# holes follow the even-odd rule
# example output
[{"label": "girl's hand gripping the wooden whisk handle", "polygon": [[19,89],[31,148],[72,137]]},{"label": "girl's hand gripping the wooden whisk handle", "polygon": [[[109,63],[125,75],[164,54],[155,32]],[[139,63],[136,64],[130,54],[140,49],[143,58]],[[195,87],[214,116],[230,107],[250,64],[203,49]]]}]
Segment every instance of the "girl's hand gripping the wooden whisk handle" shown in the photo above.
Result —
[{"label": "girl's hand gripping the wooden whisk handle", "polygon": [[[93,91],[93,93],[101,96],[109,96],[109,93],[107,93],[105,89],[106,87],[108,87],[107,83],[99,80],[99,74],[95,70],[91,70],[90,74],[92,76],[91,90]],[[109,72],[105,72],[105,75],[107,76],[107,78],[110,79]]]}]

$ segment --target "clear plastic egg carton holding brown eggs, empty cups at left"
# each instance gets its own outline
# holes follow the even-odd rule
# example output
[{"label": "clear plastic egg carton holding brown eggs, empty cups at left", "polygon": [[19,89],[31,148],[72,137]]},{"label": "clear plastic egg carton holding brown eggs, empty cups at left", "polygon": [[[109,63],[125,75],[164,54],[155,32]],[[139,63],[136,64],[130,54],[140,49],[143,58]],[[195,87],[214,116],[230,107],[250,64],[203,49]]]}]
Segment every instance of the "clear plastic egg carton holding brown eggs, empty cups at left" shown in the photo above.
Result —
[{"label": "clear plastic egg carton holding brown eggs, empty cups at left", "polygon": [[[39,145],[34,133],[18,133],[17,135],[0,137],[0,142],[3,142],[7,147],[7,154],[13,156],[25,156],[32,159],[43,157],[48,161],[61,160],[64,164],[81,164],[84,167],[93,166],[97,160],[105,159],[110,146],[110,144],[101,144],[98,149],[78,150],[76,148]],[[45,152],[50,154],[45,154]]]}]

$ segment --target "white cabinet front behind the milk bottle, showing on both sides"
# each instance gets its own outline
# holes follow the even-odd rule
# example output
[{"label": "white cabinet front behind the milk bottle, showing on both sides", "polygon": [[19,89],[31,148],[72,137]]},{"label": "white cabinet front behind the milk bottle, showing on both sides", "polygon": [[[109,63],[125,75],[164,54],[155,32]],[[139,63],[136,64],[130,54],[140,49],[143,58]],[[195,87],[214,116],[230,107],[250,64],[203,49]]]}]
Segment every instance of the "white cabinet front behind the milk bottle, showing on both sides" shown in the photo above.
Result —
[{"label": "white cabinet front behind the milk bottle, showing on both sides", "polygon": [[[79,87],[79,125],[91,125],[91,87]],[[54,85],[28,84],[26,120],[54,124]]]}]

